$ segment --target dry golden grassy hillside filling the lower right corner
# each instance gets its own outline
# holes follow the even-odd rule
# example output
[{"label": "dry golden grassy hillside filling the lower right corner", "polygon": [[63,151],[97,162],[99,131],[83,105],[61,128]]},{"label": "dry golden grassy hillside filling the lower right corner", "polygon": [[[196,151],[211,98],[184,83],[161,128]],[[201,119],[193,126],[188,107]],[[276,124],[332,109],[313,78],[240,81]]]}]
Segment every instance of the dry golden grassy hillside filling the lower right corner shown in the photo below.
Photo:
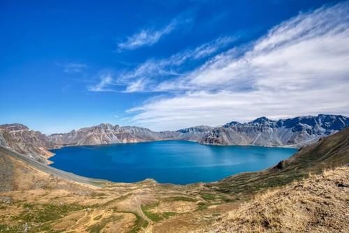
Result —
[{"label": "dry golden grassy hillside filling the lower right corner", "polygon": [[348,232],[349,167],[257,195],[197,232]]}]

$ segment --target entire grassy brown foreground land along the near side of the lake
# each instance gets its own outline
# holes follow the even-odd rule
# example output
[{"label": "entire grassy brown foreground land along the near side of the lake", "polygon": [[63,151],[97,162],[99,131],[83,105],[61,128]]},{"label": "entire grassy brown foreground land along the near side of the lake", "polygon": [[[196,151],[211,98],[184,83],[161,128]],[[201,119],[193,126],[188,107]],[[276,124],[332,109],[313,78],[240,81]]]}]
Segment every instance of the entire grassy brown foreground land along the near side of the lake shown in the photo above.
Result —
[{"label": "entire grassy brown foreground land along the near side of the lake", "polygon": [[269,170],[175,186],[87,179],[0,146],[0,229],[348,232],[348,167],[318,175],[324,168],[348,165],[348,154],[349,128],[305,146]]}]

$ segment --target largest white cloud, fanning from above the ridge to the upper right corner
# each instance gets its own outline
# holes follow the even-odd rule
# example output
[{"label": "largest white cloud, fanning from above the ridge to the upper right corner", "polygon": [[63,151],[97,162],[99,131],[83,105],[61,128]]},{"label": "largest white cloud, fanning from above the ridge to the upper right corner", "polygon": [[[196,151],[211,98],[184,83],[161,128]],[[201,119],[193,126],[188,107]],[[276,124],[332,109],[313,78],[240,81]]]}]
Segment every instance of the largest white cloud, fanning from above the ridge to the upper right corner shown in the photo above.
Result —
[{"label": "largest white cloud, fanning from above the ridge to the upper right corner", "polygon": [[154,89],[179,91],[128,110],[154,130],[301,114],[349,114],[349,3],[300,13]]}]

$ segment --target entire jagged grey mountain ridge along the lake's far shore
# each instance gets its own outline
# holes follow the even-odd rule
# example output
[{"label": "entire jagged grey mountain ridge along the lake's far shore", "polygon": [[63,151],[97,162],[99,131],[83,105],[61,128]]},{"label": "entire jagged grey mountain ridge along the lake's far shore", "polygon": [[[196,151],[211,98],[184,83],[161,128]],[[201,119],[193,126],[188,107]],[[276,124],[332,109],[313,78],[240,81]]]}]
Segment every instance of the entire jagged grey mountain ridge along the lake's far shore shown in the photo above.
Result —
[{"label": "entire jagged grey mountain ridge along the lake's far shore", "polygon": [[177,131],[154,132],[147,128],[102,123],[98,126],[50,135],[55,145],[89,145],[158,140],[187,140],[216,145],[302,146],[349,125],[348,117],[320,114],[273,121],[260,117],[248,123],[232,121],[219,127],[194,126]]}]

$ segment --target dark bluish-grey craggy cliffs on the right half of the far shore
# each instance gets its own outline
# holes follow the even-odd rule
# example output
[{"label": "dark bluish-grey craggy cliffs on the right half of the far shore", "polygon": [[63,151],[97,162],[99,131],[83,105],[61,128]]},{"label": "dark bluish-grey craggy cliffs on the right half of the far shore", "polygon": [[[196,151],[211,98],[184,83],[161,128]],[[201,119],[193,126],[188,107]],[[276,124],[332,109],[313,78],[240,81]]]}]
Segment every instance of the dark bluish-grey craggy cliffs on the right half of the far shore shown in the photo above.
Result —
[{"label": "dark bluish-grey craggy cliffs on the right half of the far shore", "polygon": [[320,114],[272,121],[260,117],[248,123],[232,121],[214,128],[200,141],[202,144],[302,146],[318,141],[346,128],[349,118]]}]

